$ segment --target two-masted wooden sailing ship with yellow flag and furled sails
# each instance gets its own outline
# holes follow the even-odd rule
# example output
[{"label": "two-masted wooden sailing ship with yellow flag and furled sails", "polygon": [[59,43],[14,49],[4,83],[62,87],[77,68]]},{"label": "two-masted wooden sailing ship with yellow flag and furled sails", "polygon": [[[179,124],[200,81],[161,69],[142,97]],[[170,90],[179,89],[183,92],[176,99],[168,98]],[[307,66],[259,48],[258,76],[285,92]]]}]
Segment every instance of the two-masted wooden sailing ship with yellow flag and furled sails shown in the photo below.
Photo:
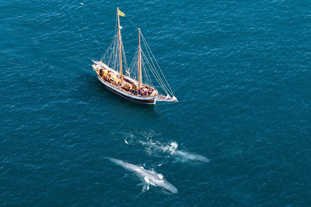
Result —
[{"label": "two-masted wooden sailing ship with yellow flag and furled sails", "polygon": [[[107,51],[100,61],[92,60],[93,70],[100,82],[109,90],[132,101],[146,104],[155,104],[156,101],[178,102],[139,28],[137,28],[138,48],[131,65],[127,66],[119,16],[125,17],[118,8],[116,24],[118,27]],[[146,52],[142,50],[141,39]],[[152,83],[154,80],[166,95],[155,88]]]}]

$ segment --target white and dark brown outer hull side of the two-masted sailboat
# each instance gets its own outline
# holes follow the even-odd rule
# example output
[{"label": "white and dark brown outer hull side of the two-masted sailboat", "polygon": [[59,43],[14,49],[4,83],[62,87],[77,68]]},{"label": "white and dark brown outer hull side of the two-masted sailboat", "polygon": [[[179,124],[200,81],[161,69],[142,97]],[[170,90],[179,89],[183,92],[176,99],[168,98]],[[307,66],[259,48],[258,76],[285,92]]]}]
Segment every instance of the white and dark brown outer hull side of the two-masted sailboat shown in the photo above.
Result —
[{"label": "white and dark brown outer hull side of the two-masted sailboat", "polygon": [[152,97],[150,97],[150,96],[149,97],[148,96],[147,97],[136,96],[136,95],[134,95],[132,93],[128,93],[127,91],[123,90],[122,88],[115,87],[114,85],[112,85],[110,83],[107,83],[106,81],[101,79],[101,77],[98,74],[97,74],[97,78],[110,91],[115,92],[119,96],[122,96],[122,97],[124,97],[124,98],[126,98],[128,100],[136,101],[136,102],[139,102],[139,103],[145,103],[145,104],[155,104],[156,103],[156,96],[152,96]]}]

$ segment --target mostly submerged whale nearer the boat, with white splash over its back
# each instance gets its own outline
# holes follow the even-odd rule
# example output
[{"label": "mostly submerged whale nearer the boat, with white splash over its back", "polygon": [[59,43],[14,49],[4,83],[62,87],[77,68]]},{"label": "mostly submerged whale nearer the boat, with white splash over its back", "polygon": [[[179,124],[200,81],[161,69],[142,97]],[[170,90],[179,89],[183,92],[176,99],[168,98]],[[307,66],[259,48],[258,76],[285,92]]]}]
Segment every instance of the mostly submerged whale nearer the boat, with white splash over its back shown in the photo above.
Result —
[{"label": "mostly submerged whale nearer the boat, with white splash over its back", "polygon": [[188,162],[207,163],[210,161],[210,159],[208,159],[207,157],[204,157],[203,155],[176,149],[177,148],[176,143],[171,143],[170,147],[162,147],[160,145],[150,143],[150,142],[141,142],[141,143],[145,146],[154,148],[160,152],[169,152],[172,156],[180,158]]}]

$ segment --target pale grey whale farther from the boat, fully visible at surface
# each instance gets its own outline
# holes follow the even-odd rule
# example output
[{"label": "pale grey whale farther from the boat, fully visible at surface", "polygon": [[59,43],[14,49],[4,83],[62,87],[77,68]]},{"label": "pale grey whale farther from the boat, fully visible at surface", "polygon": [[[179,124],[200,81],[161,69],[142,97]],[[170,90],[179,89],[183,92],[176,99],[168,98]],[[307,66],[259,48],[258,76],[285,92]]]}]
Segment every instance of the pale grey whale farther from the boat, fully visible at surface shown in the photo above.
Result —
[{"label": "pale grey whale farther from the boat, fully visible at surface", "polygon": [[108,160],[134,173],[142,182],[146,182],[148,186],[149,184],[151,184],[153,186],[160,187],[171,193],[178,192],[177,188],[174,187],[171,183],[169,183],[165,178],[163,178],[161,174],[154,173],[150,170],[144,169],[143,167],[130,164],[122,160],[117,160],[114,158],[108,158]]}]

